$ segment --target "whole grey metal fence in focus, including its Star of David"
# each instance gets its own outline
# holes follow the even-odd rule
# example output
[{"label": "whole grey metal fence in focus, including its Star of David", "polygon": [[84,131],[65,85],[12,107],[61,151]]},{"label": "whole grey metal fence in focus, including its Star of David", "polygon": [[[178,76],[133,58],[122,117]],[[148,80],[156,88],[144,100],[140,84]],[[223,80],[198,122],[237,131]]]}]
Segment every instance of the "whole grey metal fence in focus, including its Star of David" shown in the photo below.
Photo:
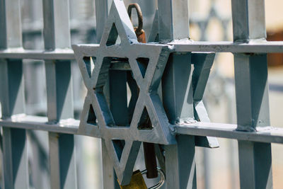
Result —
[{"label": "whole grey metal fence in focus, including its Star of David", "polygon": [[[68,0],[43,1],[45,51],[23,49],[20,1],[0,0],[3,187],[29,188],[26,133],[44,130],[51,188],[77,188],[74,134],[102,139],[107,189],[119,187],[116,176],[129,184],[141,142],[155,144],[166,188],[197,188],[195,147],[218,147],[214,137],[238,140],[241,188],[272,188],[271,143],[283,143],[283,130],[270,126],[266,53],[283,52],[283,42],[265,40],[264,3],[232,0],[233,42],[194,42],[189,2],[158,0],[141,44],[123,1],[96,0],[100,44],[74,53]],[[234,56],[237,125],[209,122],[202,103],[216,52]],[[75,57],[88,90],[81,120],[73,119]],[[23,59],[45,61],[46,118],[24,114]]]}]

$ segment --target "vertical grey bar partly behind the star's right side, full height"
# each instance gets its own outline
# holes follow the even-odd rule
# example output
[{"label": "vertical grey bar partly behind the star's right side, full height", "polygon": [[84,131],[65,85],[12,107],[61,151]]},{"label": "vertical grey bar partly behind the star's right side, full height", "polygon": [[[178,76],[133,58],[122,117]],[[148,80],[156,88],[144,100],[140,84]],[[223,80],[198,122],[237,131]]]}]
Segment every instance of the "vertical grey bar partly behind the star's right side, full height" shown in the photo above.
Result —
[{"label": "vertical grey bar partly behind the star's right side, full height", "polygon": [[[159,40],[189,37],[187,0],[158,0]],[[171,124],[193,120],[191,54],[173,54],[163,74],[163,105]],[[196,188],[195,137],[178,136],[166,151],[166,187]]]}]

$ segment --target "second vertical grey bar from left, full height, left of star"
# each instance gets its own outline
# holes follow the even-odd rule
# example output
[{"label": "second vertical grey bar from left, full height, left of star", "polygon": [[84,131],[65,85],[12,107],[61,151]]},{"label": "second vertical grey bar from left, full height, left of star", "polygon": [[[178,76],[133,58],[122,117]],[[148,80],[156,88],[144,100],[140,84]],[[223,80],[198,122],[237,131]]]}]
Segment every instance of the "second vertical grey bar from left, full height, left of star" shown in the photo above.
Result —
[{"label": "second vertical grey bar from left, full height, left of star", "polygon": [[[64,11],[63,11],[64,10]],[[45,50],[70,47],[69,0],[43,1]],[[74,117],[71,62],[45,61],[50,122]],[[77,188],[74,135],[49,133],[51,188]]]}]

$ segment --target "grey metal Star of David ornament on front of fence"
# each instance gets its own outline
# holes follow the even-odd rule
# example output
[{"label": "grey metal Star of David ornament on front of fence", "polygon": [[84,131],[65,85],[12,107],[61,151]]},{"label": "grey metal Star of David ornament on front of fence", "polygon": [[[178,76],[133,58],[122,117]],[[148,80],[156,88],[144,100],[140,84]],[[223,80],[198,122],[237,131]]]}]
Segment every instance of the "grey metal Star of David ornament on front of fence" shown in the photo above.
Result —
[{"label": "grey metal Star of David ornament on front of fence", "polygon": [[[120,44],[117,38],[120,37]],[[137,41],[125,4],[113,0],[108,21],[99,45],[73,45],[75,57],[88,93],[83,105],[79,134],[103,138],[121,185],[132,176],[141,142],[173,144],[165,110],[157,89],[169,54],[169,45],[143,44]],[[139,95],[129,125],[117,125],[103,93],[113,60],[127,59]],[[147,59],[141,68],[139,59]],[[118,96],[119,94],[117,94]],[[147,112],[152,127],[140,129],[139,123]]]}]

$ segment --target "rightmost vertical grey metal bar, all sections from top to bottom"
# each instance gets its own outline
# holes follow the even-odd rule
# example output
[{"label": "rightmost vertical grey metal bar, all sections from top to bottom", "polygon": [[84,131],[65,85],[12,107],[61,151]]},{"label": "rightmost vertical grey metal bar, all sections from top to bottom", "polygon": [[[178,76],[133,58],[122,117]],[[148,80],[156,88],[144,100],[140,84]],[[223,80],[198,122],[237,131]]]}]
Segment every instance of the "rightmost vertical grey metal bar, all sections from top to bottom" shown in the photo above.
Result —
[{"label": "rightmost vertical grey metal bar, all sections from top to bottom", "polygon": [[[265,40],[265,1],[233,0],[233,40]],[[235,54],[238,130],[270,125],[266,54]],[[272,188],[271,145],[238,141],[241,188]]]}]

